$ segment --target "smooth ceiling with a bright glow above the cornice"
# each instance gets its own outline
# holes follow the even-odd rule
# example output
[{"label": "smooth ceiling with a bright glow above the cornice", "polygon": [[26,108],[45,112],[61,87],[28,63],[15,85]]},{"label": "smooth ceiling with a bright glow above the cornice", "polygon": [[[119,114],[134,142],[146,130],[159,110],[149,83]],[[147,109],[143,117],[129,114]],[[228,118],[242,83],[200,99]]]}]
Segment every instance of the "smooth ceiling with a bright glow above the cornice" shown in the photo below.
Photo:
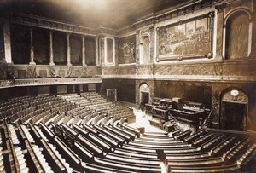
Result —
[{"label": "smooth ceiling with a bright glow above the cornice", "polygon": [[196,0],[3,0],[0,10],[40,15],[90,28],[120,29],[160,11],[193,2]]}]

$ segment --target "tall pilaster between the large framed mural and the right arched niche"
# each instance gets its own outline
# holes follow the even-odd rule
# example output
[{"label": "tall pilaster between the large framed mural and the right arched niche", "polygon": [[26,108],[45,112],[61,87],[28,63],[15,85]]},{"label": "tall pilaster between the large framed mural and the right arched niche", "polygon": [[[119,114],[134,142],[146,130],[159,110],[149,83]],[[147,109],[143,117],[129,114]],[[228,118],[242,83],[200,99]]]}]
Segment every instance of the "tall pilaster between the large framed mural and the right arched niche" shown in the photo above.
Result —
[{"label": "tall pilaster between the large framed mural and the right arched niche", "polygon": [[216,43],[216,58],[224,59],[224,9],[225,4],[215,7],[217,9],[217,43]]}]

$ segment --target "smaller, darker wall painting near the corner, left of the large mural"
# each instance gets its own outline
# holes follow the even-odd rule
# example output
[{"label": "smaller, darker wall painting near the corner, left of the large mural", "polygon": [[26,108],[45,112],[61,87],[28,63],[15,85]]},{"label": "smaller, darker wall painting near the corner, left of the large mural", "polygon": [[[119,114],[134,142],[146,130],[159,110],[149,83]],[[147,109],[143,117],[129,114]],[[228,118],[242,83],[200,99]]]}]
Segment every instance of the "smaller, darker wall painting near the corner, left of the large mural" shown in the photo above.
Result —
[{"label": "smaller, darker wall painting near the corner, left of the large mural", "polygon": [[136,62],[136,36],[122,37],[119,39],[119,64]]}]

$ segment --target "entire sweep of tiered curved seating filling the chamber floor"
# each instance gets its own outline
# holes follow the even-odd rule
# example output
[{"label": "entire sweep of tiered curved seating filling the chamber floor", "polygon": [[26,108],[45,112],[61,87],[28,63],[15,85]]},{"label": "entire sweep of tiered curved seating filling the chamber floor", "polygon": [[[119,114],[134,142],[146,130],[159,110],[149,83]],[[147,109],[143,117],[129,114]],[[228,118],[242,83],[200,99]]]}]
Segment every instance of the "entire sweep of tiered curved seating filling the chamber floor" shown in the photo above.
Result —
[{"label": "entire sweep of tiered curved seating filling the chamber floor", "polygon": [[174,121],[170,132],[140,133],[125,122],[131,112],[95,92],[15,98],[0,110],[0,172],[256,170],[253,136],[193,134]]}]

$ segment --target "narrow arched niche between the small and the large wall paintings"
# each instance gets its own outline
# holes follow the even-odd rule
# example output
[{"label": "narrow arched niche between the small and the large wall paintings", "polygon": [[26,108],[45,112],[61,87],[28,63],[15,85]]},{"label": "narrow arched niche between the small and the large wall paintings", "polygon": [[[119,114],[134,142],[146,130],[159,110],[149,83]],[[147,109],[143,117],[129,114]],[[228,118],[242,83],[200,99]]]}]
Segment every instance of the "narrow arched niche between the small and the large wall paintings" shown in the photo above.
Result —
[{"label": "narrow arched niche between the small and the large wall paintings", "polygon": [[150,37],[149,34],[143,34],[140,39],[140,64],[150,62]]}]

